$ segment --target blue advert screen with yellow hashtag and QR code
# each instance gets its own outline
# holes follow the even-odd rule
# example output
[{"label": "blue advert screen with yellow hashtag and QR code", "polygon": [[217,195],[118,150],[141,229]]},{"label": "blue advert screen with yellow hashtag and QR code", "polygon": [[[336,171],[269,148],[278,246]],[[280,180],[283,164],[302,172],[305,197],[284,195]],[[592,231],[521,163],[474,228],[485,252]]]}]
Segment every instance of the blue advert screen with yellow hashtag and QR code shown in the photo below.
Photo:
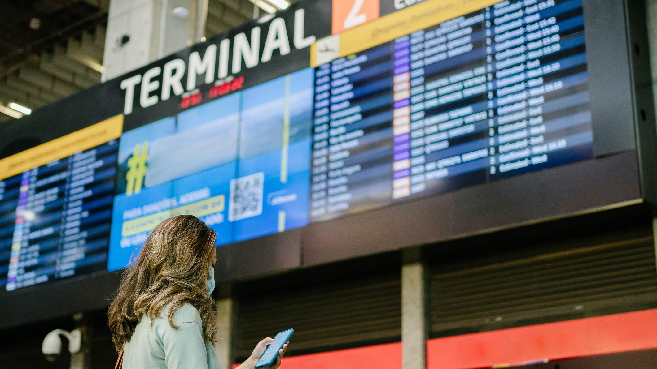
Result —
[{"label": "blue advert screen with yellow hashtag and QR code", "polygon": [[307,68],[124,133],[108,270],[173,215],[199,217],[217,246],[307,225],[313,78]]}]

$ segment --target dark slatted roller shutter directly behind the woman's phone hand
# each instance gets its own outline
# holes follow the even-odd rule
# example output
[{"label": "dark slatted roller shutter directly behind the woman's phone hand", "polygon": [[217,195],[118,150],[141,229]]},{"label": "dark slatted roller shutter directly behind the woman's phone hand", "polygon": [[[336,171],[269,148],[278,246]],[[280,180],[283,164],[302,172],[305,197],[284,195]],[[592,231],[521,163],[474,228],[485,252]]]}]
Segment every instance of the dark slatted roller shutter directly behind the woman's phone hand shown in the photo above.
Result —
[{"label": "dark slatted roller shutter directly behind the woman's phone hand", "polygon": [[260,339],[288,328],[296,331],[292,355],[398,341],[401,336],[398,273],[282,289],[240,297],[236,358],[248,357]]}]

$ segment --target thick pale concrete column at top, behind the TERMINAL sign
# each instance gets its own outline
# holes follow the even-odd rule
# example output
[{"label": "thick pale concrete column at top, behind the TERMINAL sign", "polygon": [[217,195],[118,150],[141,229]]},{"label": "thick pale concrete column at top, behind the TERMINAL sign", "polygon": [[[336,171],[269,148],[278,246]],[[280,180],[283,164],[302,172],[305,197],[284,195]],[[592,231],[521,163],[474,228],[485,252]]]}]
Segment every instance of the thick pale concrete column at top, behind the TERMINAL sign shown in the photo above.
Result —
[{"label": "thick pale concrete column at top, behind the TERMINAL sign", "polygon": [[207,12],[208,0],[112,0],[102,80],[199,42]]}]

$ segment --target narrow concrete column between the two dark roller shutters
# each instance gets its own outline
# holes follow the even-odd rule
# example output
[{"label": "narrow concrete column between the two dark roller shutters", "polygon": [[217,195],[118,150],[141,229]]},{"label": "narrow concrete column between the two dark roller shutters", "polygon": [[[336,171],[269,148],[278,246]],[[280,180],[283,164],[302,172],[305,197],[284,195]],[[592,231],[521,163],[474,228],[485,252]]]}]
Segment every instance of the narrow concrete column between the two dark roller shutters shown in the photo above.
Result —
[{"label": "narrow concrete column between the two dark roller shutters", "polygon": [[403,369],[426,369],[428,338],[426,265],[419,248],[403,251],[401,351]]}]

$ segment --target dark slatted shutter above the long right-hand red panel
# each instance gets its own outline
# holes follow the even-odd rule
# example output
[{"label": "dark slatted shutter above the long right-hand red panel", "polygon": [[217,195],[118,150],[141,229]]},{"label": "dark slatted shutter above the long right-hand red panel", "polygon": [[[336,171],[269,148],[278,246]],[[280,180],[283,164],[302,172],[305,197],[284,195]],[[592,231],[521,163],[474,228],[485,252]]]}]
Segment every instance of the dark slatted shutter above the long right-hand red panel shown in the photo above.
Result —
[{"label": "dark slatted shutter above the long right-hand red panel", "polygon": [[651,219],[631,206],[434,250],[431,336],[656,308]]}]

